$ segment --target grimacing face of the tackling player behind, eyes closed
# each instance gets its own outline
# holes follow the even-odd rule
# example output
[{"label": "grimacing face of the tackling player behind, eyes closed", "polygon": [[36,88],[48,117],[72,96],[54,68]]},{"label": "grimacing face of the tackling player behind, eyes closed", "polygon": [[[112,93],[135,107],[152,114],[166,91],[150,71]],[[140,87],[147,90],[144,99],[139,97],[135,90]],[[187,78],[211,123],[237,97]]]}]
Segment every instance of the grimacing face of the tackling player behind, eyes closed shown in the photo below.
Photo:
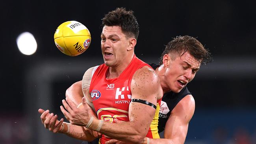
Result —
[{"label": "grimacing face of the tackling player behind, eyes closed", "polygon": [[181,57],[176,56],[175,60],[170,59],[165,71],[165,83],[168,89],[176,93],[180,92],[195,77],[199,68],[200,61],[189,52],[185,52]]}]

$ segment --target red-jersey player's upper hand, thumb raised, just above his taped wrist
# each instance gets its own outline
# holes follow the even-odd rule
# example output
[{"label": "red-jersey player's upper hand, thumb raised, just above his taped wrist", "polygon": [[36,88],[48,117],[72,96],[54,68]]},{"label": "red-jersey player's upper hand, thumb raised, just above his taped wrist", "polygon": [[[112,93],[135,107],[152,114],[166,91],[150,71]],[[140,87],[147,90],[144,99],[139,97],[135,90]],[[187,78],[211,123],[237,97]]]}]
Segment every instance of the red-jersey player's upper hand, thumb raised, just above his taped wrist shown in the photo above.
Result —
[{"label": "red-jersey player's upper hand, thumb raised, just above his taped wrist", "polygon": [[[83,98],[83,108],[77,108],[74,102],[72,102],[69,98],[66,98],[66,100],[62,100],[62,103],[65,107],[61,105],[60,109],[61,112],[64,114],[65,118],[69,120],[71,124],[77,125],[77,126],[87,126],[89,120],[93,116],[93,110],[89,105],[87,104],[86,100]],[[98,119],[95,117],[95,119]]]}]

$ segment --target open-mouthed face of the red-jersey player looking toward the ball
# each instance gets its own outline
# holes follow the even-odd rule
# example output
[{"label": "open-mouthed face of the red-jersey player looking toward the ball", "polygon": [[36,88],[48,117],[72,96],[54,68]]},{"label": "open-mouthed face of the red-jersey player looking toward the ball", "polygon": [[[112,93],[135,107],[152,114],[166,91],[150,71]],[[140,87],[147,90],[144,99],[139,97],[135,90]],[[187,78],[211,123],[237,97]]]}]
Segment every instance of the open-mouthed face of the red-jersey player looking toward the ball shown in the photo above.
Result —
[{"label": "open-mouthed face of the red-jersey player looking toward the ball", "polygon": [[120,26],[104,26],[101,33],[101,50],[107,66],[118,66],[125,62],[129,40]]}]

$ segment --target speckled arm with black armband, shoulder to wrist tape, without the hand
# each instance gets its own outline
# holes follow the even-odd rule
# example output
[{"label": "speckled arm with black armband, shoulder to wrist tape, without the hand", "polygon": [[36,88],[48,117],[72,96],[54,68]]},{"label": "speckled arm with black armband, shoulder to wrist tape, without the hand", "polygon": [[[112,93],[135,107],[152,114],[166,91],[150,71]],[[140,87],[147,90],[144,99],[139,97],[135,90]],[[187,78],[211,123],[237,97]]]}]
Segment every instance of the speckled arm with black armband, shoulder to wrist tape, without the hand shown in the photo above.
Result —
[{"label": "speckled arm with black armband, shoulder to wrist tape, without the hand", "polygon": [[[135,72],[131,82],[132,99],[145,100],[154,105],[161,97],[160,81],[154,70],[143,67]],[[131,102],[129,106],[130,122],[109,124],[104,122],[100,132],[125,142],[141,143],[147,135],[156,109],[150,105]]]}]

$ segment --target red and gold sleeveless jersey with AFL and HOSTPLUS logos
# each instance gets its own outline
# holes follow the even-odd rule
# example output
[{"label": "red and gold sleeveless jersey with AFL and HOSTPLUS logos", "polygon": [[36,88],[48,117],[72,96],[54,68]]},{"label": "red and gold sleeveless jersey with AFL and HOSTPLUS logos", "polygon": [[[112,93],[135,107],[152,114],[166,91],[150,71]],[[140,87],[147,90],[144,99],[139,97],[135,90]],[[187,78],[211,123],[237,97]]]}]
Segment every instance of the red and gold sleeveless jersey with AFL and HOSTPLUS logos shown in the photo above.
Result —
[{"label": "red and gold sleeveless jersey with AFL and HOSTPLUS logos", "polygon": [[[115,122],[114,118],[117,118],[121,121],[129,121],[128,109],[132,98],[130,89],[132,77],[134,73],[143,66],[149,65],[134,55],[127,68],[118,78],[114,79],[106,79],[109,72],[108,66],[105,64],[98,66],[92,76],[89,92],[100,120]],[[158,100],[158,102],[161,102],[161,100]],[[158,103],[156,115],[146,137],[159,138],[157,129],[159,105]],[[108,140],[108,138],[102,135],[99,143],[105,144]]]}]

